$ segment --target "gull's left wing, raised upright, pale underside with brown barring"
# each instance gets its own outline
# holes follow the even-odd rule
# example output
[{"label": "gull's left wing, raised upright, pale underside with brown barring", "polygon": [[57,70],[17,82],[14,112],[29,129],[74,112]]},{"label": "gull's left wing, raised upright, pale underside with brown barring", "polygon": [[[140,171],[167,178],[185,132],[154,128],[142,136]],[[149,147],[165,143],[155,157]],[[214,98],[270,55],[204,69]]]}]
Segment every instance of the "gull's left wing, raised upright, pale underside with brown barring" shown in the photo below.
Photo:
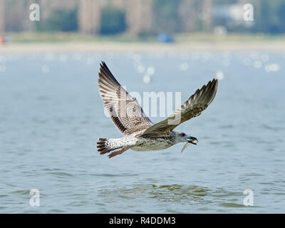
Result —
[{"label": "gull's left wing, raised upright, pale underside with brown barring", "polygon": [[130,135],[152,125],[138,101],[120,86],[104,62],[100,63],[98,88],[105,109],[121,133]]}]

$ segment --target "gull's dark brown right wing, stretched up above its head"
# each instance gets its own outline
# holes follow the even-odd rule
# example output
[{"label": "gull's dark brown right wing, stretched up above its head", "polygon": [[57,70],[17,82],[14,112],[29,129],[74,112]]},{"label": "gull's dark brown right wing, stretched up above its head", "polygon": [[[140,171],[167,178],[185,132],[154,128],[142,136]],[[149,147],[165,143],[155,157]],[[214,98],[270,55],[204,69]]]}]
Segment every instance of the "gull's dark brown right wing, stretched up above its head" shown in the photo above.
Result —
[{"label": "gull's dark brown right wing, stretched up above its head", "polygon": [[217,79],[209,81],[207,86],[204,85],[201,89],[198,89],[192,96],[190,96],[180,109],[175,110],[175,112],[165,120],[147,128],[142,135],[168,135],[181,123],[200,115],[212,100],[214,100],[214,96],[217,92],[217,86]]}]

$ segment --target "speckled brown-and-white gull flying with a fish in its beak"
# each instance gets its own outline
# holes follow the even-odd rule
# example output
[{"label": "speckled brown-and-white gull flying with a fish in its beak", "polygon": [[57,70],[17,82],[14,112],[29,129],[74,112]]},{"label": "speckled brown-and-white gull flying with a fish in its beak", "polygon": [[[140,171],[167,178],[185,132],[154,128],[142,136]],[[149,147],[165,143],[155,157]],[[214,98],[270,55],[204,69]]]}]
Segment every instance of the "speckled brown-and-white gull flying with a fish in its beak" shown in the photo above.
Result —
[{"label": "speckled brown-and-white gull flying with a fish in its beak", "polygon": [[[108,157],[120,155],[128,149],[135,151],[164,150],[178,142],[186,142],[182,151],[190,144],[197,145],[197,138],[174,131],[174,129],[205,110],[217,92],[218,80],[213,79],[202,86],[165,120],[153,124],[145,115],[138,101],[115,79],[105,62],[100,63],[98,89],[114,125],[123,138],[99,138],[97,148],[100,155],[111,152]],[[181,151],[181,152],[182,152]]]}]

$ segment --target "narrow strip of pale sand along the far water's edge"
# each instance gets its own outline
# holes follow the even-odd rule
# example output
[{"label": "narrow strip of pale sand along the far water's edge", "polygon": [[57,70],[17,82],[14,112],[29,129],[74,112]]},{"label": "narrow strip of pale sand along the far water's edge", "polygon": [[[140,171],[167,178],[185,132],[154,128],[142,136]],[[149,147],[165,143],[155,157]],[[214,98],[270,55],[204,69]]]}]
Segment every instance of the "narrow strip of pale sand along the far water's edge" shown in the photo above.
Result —
[{"label": "narrow strip of pale sand along the far water's edge", "polygon": [[277,51],[285,52],[285,41],[254,43],[6,43],[0,52],[69,52],[69,51]]}]

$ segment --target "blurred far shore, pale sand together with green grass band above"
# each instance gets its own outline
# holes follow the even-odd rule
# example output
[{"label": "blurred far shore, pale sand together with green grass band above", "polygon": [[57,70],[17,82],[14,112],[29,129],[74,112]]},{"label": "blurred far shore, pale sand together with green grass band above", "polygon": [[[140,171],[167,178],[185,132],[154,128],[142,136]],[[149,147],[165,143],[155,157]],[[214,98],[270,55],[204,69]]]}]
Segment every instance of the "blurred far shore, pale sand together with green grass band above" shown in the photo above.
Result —
[{"label": "blurred far shore, pale sand together with green grass band above", "polygon": [[68,51],[277,51],[285,52],[285,36],[265,34],[180,33],[175,43],[156,36],[91,36],[78,33],[8,33],[0,52]]}]

